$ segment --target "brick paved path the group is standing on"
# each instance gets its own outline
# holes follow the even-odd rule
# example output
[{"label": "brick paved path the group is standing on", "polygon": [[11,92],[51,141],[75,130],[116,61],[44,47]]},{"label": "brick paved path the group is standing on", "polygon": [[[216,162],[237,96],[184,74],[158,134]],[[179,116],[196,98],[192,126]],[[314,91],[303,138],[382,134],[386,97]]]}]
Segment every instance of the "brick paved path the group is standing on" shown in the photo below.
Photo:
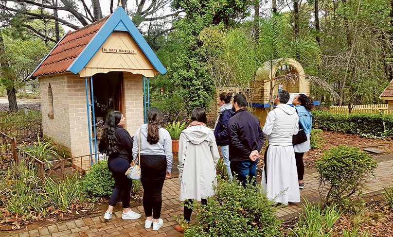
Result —
[{"label": "brick paved path the group is standing on", "polygon": [[[319,178],[316,171],[304,175],[306,187],[301,190],[301,199],[307,198],[309,201],[317,202],[319,198],[318,185]],[[393,159],[388,157],[387,161],[378,163],[375,170],[375,178],[368,178],[363,189],[364,195],[383,193],[383,187],[393,186]],[[179,182],[177,178],[165,180],[162,190],[163,205],[161,218],[164,220],[163,226],[159,231],[144,228],[144,220],[122,220],[121,211],[115,212],[112,220],[105,221],[103,214],[93,218],[83,218],[58,223],[48,227],[28,230],[19,234],[0,233],[1,236],[13,237],[165,237],[165,236],[183,236],[174,229],[177,224],[173,218],[175,215],[183,215],[182,206],[179,199]],[[133,211],[139,212],[143,216],[143,206],[132,208]],[[276,216],[281,219],[288,219],[297,216],[302,210],[301,204],[288,205],[276,210]]]}]

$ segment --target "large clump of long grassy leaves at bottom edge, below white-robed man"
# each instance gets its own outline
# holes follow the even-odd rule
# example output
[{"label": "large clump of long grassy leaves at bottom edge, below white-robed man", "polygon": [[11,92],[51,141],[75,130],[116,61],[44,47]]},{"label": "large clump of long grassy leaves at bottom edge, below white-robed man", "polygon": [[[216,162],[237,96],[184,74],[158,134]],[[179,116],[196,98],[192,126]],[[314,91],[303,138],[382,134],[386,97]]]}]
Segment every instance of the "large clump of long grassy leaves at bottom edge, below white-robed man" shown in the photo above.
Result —
[{"label": "large clump of long grassy leaves at bottom edge, below white-robed man", "polygon": [[303,204],[304,214],[299,214],[299,221],[291,229],[297,237],[328,237],[333,231],[332,226],[339,220],[341,211],[337,206],[313,204],[306,199]]}]

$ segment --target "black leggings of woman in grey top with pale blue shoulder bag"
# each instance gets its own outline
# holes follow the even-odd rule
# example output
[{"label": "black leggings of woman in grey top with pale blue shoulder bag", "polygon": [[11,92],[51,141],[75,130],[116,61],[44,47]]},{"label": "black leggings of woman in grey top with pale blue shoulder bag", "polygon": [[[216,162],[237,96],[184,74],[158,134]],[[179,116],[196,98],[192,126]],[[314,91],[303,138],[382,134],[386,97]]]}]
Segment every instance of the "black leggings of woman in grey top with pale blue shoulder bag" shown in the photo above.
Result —
[{"label": "black leggings of woman in grey top with pale blue shoulder bag", "polygon": [[141,155],[143,209],[146,217],[159,219],[162,206],[162,186],[166,174],[165,155]]}]

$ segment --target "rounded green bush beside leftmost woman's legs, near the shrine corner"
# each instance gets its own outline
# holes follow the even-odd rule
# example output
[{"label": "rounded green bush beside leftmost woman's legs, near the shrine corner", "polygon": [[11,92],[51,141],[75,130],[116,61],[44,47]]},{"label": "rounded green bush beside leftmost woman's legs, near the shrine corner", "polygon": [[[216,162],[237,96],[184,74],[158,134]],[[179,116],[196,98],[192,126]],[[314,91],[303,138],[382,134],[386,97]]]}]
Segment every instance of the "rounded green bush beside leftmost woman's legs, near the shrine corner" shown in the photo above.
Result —
[{"label": "rounded green bush beside leftmost woman's legs, near the shrine corner", "polygon": [[108,169],[106,160],[95,163],[83,179],[86,196],[93,198],[107,197],[112,193],[115,185],[112,173]]}]

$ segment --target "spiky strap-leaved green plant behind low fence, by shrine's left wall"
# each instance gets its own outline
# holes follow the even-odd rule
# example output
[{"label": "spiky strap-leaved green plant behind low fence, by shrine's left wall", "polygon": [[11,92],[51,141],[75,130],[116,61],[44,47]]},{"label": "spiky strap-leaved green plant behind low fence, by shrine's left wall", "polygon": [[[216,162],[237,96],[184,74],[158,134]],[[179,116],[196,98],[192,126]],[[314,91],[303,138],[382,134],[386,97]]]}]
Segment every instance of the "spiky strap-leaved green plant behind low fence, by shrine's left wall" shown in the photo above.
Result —
[{"label": "spiky strap-leaved green plant behind low fence, by shrine's left wall", "polygon": [[48,161],[49,158],[58,158],[61,156],[56,152],[56,145],[52,143],[52,141],[40,140],[39,136],[37,136],[38,141],[34,142],[33,145],[27,146],[25,145],[22,150],[33,157],[36,157],[40,161]]}]

